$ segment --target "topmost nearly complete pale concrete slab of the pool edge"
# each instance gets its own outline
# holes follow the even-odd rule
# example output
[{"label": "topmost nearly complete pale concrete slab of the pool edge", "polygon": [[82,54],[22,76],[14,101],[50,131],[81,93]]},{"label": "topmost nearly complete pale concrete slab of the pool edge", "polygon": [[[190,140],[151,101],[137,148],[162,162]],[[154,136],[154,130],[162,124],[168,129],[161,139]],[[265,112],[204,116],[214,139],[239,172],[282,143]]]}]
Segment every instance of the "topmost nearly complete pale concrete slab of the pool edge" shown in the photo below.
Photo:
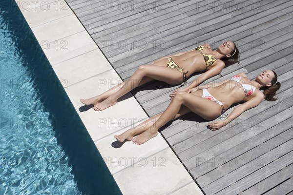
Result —
[{"label": "topmost nearly complete pale concrete slab of the pool edge", "polygon": [[[39,0],[36,2],[39,2]],[[51,3],[46,9],[40,6],[22,13],[26,19],[29,19],[27,22],[31,28],[73,14],[70,7],[63,0]]]}]

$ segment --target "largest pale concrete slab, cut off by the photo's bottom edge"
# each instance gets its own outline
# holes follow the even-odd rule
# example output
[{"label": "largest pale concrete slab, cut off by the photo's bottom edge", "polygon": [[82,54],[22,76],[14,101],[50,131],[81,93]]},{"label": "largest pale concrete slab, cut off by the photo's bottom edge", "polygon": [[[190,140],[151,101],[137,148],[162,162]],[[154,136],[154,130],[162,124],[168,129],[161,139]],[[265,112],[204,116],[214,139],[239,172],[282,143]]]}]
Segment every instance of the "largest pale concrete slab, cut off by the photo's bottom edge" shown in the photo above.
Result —
[{"label": "largest pale concrete slab, cut off by the photo's bottom edge", "polygon": [[170,148],[142,159],[113,176],[123,194],[127,195],[168,194],[193,181]]}]

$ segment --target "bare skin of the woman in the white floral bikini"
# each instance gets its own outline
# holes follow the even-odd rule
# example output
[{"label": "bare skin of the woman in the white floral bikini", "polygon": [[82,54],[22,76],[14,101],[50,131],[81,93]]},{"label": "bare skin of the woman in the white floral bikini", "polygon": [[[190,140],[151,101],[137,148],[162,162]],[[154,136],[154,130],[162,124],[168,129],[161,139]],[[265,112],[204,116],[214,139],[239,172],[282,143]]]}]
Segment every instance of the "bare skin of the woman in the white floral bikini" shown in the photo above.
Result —
[{"label": "bare skin of the woman in the white floral bikini", "polygon": [[[271,81],[274,74],[271,70],[266,70],[260,73],[254,80],[247,78],[244,73],[240,73],[238,76],[242,77],[242,84],[250,84],[256,88],[250,96],[245,97],[242,86],[238,82],[230,79],[195,87],[188,90],[188,92],[178,92],[174,98],[172,98],[172,101],[165,112],[149,118],[146,121],[147,125],[142,124],[136,126],[127,130],[123,134],[119,136],[115,135],[114,137],[120,142],[132,140],[134,144],[140,145],[152,137],[157,136],[159,128],[165,125],[168,121],[189,112],[193,112],[207,120],[212,120],[218,117],[222,113],[222,107],[214,101],[202,98],[203,88],[206,88],[214,98],[221,101],[225,109],[229,108],[233,103],[244,101],[244,103],[236,107],[225,120],[219,120],[208,124],[210,130],[218,130],[246,110],[260,104],[265,96],[259,89],[264,86],[270,87],[272,85]],[[134,136],[136,137],[133,138]]]}]

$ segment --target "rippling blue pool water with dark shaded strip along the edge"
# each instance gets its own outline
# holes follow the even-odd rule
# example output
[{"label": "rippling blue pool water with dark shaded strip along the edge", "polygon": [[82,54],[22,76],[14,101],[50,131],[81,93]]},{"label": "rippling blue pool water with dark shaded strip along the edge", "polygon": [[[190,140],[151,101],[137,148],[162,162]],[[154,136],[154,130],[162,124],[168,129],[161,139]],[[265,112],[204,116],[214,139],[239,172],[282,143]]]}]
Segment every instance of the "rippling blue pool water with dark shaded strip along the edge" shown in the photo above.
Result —
[{"label": "rippling blue pool water with dark shaded strip along the edge", "polygon": [[121,194],[14,0],[0,7],[0,195]]}]

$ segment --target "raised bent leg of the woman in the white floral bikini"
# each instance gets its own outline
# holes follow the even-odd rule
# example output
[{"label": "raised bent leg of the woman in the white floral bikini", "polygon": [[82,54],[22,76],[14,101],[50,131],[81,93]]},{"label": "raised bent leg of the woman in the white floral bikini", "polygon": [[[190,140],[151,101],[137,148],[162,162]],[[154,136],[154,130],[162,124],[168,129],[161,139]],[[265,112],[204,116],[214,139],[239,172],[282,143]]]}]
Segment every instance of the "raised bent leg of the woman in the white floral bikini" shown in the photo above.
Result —
[{"label": "raised bent leg of the woman in the white floral bikini", "polygon": [[192,94],[177,92],[165,112],[146,131],[133,139],[135,144],[143,144],[152,137],[157,136],[160,127],[175,117],[182,105],[188,107],[193,113],[205,119],[213,119],[221,114],[222,107],[209,99],[202,98],[202,90]]}]

